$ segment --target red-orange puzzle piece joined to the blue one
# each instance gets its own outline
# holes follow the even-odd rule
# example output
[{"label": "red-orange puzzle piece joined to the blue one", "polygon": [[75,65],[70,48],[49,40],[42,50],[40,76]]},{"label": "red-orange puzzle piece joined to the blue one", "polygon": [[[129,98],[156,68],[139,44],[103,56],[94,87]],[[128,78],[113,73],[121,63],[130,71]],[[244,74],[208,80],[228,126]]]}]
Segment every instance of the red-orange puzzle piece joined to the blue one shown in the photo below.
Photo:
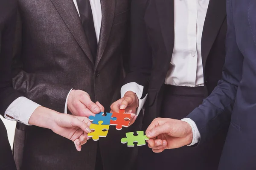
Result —
[{"label": "red-orange puzzle piece joined to the blue one", "polygon": [[113,112],[112,118],[116,120],[111,120],[110,125],[115,125],[116,130],[122,130],[122,127],[128,127],[131,120],[131,114],[125,114],[125,110],[119,110],[119,113]]}]

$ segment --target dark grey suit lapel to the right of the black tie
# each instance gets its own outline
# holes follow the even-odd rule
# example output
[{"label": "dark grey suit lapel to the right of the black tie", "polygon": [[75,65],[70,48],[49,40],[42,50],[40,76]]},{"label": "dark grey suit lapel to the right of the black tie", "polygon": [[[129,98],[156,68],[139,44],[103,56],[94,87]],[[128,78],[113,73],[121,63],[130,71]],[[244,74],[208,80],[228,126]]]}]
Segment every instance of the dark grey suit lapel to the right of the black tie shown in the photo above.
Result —
[{"label": "dark grey suit lapel to the right of the black tie", "polygon": [[99,45],[98,45],[98,52],[96,57],[96,64],[95,67],[99,64],[100,59],[105,51],[108,37],[111,32],[114,14],[115,14],[115,4],[116,0],[101,0],[102,6],[102,25],[100,29],[99,35]]}]

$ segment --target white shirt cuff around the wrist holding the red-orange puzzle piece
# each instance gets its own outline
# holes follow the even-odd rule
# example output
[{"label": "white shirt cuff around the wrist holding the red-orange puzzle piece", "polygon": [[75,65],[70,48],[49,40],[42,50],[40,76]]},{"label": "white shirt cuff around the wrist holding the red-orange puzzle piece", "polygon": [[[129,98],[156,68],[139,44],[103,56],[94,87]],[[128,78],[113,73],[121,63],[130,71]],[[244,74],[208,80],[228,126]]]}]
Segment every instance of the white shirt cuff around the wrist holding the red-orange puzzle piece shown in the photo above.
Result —
[{"label": "white shirt cuff around the wrist holding the red-orange puzzle piece", "polygon": [[129,82],[125,85],[122,86],[121,88],[121,98],[125,95],[125,93],[127,91],[132,91],[134,92],[138,99],[139,99],[139,106],[137,108],[137,116],[139,115],[141,109],[143,108],[146,100],[147,100],[147,97],[148,97],[148,94],[143,98],[143,99],[140,99],[142,97],[142,94],[143,94],[143,86],[142,85],[139,85],[137,84],[136,82]]}]

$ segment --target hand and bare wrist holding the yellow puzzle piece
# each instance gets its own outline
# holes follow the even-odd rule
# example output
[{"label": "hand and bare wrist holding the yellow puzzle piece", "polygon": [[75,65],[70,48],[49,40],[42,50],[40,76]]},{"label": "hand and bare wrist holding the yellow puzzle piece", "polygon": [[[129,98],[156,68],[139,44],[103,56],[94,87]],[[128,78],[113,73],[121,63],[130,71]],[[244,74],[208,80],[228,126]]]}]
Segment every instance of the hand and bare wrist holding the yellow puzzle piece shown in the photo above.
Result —
[{"label": "hand and bare wrist holding the yellow puzzle piece", "polygon": [[87,117],[58,113],[42,106],[35,109],[29,119],[30,125],[51,129],[54,133],[72,140],[78,151],[88,139],[91,122]]}]

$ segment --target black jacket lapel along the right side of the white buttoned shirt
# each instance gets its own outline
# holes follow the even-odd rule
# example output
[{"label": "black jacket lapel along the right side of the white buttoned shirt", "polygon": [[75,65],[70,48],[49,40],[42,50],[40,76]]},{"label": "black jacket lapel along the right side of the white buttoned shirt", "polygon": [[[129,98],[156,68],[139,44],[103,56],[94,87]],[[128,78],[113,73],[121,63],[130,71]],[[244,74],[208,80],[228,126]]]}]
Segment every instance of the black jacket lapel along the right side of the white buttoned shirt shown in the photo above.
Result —
[{"label": "black jacket lapel along the right side of the white buttoned shirt", "polygon": [[210,0],[201,40],[203,67],[225,18],[226,0]]}]

